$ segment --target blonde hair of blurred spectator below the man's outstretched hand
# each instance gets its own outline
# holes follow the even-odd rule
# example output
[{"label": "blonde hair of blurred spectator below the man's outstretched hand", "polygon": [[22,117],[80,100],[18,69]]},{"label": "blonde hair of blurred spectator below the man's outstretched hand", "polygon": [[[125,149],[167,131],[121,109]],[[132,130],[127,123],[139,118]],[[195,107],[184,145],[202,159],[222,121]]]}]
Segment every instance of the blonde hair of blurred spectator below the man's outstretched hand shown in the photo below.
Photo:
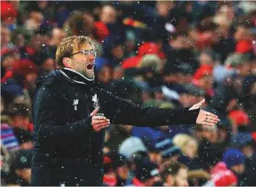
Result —
[{"label": "blonde hair of blurred spectator below the man's outstretched hand", "polygon": [[197,140],[194,139],[192,136],[189,136],[188,134],[177,134],[176,136],[174,136],[173,142],[182,150],[183,153],[186,152],[186,146],[189,142],[195,142],[196,149],[198,147]]}]

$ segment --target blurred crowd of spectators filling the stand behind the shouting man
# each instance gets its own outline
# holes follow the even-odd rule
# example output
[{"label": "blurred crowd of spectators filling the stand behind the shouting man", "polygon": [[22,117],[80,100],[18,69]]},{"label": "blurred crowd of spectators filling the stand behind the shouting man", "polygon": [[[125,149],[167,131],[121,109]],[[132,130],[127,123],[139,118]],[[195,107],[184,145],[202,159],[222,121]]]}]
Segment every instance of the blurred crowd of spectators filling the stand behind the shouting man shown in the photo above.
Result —
[{"label": "blurred crowd of spectators filling the stand behind the shouting man", "polygon": [[98,87],[141,107],[205,98],[221,118],[111,124],[103,186],[256,185],[254,1],[1,1],[1,185],[30,184],[36,82],[69,35],[93,39]]}]

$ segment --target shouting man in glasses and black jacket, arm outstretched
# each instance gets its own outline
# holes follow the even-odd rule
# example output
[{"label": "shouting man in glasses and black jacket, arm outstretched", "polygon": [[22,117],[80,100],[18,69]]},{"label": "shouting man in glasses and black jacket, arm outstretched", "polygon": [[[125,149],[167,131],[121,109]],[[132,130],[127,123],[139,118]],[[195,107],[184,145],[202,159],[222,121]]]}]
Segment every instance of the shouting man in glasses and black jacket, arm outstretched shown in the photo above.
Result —
[{"label": "shouting man in glasses and black jacket, arm outstretched", "polygon": [[202,124],[218,117],[200,110],[139,108],[96,87],[90,38],[71,36],[56,51],[58,69],[40,82],[33,100],[32,186],[101,186],[103,142],[110,123],[133,126]]}]

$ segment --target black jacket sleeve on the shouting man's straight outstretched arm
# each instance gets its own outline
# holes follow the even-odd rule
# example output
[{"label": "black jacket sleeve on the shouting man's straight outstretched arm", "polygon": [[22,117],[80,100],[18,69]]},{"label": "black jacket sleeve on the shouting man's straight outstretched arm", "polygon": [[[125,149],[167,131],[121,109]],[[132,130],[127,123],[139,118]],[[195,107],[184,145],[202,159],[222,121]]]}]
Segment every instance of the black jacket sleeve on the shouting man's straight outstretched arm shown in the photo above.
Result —
[{"label": "black jacket sleeve on the shouting man's straight outstretched arm", "polygon": [[[195,124],[200,109],[140,108],[109,92],[106,114],[112,123],[133,126],[164,126]],[[111,106],[111,107],[109,107]]]}]

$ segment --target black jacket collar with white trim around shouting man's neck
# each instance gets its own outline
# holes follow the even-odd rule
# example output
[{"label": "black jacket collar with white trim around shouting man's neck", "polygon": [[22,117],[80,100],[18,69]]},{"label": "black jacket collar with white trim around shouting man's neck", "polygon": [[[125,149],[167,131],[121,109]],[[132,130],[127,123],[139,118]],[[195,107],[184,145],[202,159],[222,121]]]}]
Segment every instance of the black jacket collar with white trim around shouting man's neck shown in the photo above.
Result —
[{"label": "black jacket collar with white trim around shouting man's neck", "polygon": [[64,68],[64,69],[59,69],[59,71],[70,82],[74,82],[74,83],[78,83],[78,84],[94,83],[95,77],[93,77],[93,79],[89,79],[88,77],[85,77],[84,75],[80,74],[79,72],[74,71],[74,69]]}]

